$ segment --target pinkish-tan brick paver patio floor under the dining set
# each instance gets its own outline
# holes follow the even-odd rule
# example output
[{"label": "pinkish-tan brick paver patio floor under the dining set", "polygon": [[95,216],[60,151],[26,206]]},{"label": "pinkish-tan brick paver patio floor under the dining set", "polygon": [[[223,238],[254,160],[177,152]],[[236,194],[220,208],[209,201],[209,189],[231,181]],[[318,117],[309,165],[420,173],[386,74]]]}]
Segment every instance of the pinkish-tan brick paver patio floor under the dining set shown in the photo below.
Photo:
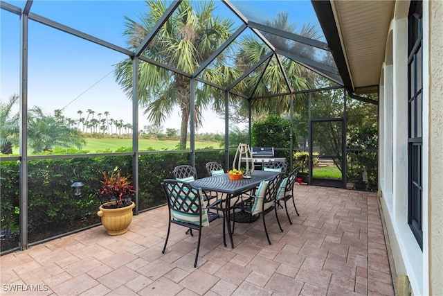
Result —
[{"label": "pinkish-tan brick paver patio floor under the dining set", "polygon": [[[129,232],[84,232],[1,256],[1,295],[394,295],[375,193],[296,186],[284,232],[266,215],[236,223],[235,248],[224,247],[221,219],[197,236],[172,225],[168,208],[134,216]],[[195,232],[197,233],[197,232]],[[228,244],[229,245],[229,244]],[[12,289],[20,289],[12,292]],[[26,290],[28,289],[28,290]],[[39,290],[39,291],[30,291]]]}]

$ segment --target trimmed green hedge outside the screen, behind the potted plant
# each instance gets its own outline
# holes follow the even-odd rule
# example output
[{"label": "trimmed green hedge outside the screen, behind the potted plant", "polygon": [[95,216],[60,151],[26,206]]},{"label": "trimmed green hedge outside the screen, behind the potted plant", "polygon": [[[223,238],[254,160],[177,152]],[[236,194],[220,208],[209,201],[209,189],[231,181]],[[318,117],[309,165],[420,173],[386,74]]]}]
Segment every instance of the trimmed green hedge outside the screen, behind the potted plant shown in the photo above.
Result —
[{"label": "trimmed green hedge outside the screen, behind the potted plant", "polygon": [[[197,152],[195,166],[206,177],[206,162],[224,164],[223,151]],[[190,153],[156,153],[138,158],[138,210],[165,204],[160,182],[172,178],[179,164],[190,164]],[[102,171],[115,167],[132,174],[132,156],[39,159],[28,162],[28,241],[35,243],[100,223],[96,215],[105,200],[97,195]],[[1,252],[19,243],[19,163],[1,162]],[[71,184],[84,183],[74,198]]]}]

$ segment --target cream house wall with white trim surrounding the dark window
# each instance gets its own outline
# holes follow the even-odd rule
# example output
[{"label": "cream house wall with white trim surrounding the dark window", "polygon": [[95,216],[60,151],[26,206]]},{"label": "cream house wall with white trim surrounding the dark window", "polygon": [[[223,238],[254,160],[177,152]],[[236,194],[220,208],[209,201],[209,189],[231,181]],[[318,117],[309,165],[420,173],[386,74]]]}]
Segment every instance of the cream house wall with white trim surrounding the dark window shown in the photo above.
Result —
[{"label": "cream house wall with white trim surrounding the dark window", "polygon": [[380,81],[379,189],[397,275],[413,295],[443,295],[443,1],[423,2],[423,250],[408,226],[409,1],[397,1]]}]

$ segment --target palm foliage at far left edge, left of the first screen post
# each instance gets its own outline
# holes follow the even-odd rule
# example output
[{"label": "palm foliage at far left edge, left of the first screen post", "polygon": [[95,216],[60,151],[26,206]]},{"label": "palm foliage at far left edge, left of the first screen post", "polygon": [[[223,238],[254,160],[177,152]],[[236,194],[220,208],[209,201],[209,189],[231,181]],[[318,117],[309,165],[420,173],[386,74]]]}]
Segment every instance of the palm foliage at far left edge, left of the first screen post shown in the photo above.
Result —
[{"label": "palm foliage at far left edge, left of the first screen post", "polygon": [[19,101],[13,94],[8,103],[0,102],[0,153],[11,154],[12,147],[19,143],[19,113],[12,114],[12,108]]}]

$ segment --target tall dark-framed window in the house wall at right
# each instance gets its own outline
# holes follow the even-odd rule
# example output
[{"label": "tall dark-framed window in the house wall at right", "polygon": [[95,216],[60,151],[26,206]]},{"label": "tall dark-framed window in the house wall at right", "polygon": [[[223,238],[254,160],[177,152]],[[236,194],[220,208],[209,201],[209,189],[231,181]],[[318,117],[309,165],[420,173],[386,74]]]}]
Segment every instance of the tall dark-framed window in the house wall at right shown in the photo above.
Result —
[{"label": "tall dark-framed window in the house wall at right", "polygon": [[408,224],[423,250],[422,44],[422,1],[411,1],[408,16]]}]

